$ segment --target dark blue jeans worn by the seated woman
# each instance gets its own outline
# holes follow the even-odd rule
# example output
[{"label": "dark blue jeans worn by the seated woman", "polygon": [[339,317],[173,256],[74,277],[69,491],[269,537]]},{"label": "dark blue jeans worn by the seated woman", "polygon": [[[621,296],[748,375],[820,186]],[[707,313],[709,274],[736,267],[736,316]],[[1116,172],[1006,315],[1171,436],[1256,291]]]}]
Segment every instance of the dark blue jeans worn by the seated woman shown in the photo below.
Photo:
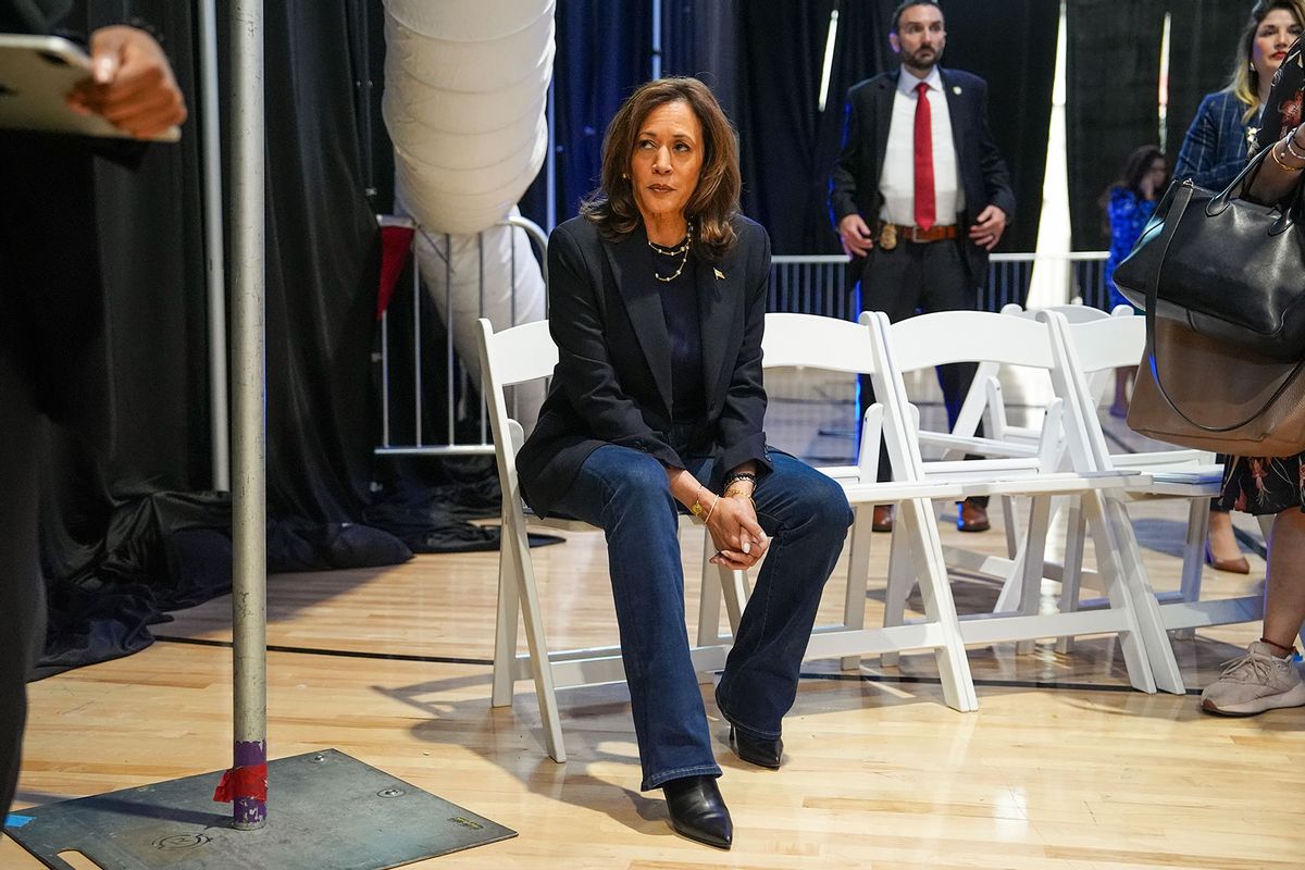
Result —
[{"label": "dark blue jeans worn by the seated woman", "polygon": [[[797,672],[825,580],[852,511],[842,488],[780,453],[757,481],[757,519],[771,537],[716,687],[716,706],[740,730],[778,737],[797,695]],[[713,459],[688,459],[699,481]],[[556,505],[607,533],[621,657],[630,690],[642,789],[683,776],[719,776],[702,693],[689,657],[679,502],[652,457],[617,445],[590,454]]]}]

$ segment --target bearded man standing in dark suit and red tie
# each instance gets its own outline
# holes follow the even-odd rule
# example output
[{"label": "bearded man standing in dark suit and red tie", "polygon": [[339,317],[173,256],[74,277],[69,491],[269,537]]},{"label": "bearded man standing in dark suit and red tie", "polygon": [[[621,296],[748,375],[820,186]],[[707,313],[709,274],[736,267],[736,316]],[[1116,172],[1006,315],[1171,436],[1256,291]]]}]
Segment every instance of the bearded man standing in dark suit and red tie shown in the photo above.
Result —
[{"label": "bearded man standing in dark suit and red tie", "polygon": [[[946,44],[934,0],[907,0],[889,34],[902,67],[860,82],[847,94],[843,150],[830,177],[829,205],[843,250],[852,258],[848,287],[861,282],[861,308],[891,321],[917,310],[975,307],[988,274],[988,252],[1014,214],[1010,175],[988,129],[988,85],[942,69]],[[974,364],[938,368],[955,424]],[[874,400],[861,378],[860,407]],[[880,479],[891,477],[886,451]],[[876,531],[891,528],[876,507]],[[985,531],[985,500],[962,503],[960,531]]]}]

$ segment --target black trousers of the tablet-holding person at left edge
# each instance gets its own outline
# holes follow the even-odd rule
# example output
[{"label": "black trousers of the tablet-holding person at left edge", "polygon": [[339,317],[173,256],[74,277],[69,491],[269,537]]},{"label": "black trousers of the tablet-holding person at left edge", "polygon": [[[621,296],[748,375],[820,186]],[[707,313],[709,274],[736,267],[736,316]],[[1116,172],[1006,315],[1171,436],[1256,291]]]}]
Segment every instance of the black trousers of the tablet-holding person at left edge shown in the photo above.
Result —
[{"label": "black trousers of the tablet-holding person at left edge", "polygon": [[[3,317],[4,314],[0,314]],[[21,338],[0,329],[0,817],[22,760],[27,674],[46,642],[37,552],[37,440],[40,417],[18,368]]]}]

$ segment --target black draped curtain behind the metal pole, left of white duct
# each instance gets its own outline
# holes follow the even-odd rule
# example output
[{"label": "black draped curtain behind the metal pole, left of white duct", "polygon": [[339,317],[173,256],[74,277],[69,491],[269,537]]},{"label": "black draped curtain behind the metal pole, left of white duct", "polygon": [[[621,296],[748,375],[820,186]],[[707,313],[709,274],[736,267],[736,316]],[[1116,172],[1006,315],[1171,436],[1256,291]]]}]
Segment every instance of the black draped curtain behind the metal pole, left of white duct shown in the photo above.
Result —
[{"label": "black draped curtain behind the metal pole, left of white duct", "polygon": [[[371,472],[377,282],[348,31],[363,3],[300,0],[265,10],[271,570],[411,556],[388,532],[358,524]],[[137,171],[97,167],[114,441],[106,457],[51,428],[43,466],[42,557],[51,601],[43,673],[140,648],[162,610],[230,583],[230,507],[223,493],[209,492],[196,20],[189,4],[170,0],[90,0],[70,23],[94,27],[129,16],[161,31],[191,120],[181,143],[150,146]],[[228,20],[219,4],[219,21]],[[226,77],[219,91],[231,93]]]}]

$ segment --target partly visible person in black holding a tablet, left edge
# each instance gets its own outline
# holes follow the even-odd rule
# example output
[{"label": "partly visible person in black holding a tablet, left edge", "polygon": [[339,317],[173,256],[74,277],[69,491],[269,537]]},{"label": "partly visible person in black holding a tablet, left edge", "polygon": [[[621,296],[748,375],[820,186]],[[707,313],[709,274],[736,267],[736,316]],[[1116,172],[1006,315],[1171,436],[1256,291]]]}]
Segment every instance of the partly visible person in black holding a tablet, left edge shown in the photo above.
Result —
[{"label": "partly visible person in black holding a tablet, left edge", "polygon": [[[70,0],[0,0],[0,33],[48,33],[70,9]],[[185,119],[150,34],[100,27],[89,53],[91,77],[69,97],[70,111],[102,115],[138,138]],[[46,639],[37,539],[43,417],[97,445],[108,438],[98,149],[95,140],[0,130],[0,817],[18,780],[26,677]]]}]

